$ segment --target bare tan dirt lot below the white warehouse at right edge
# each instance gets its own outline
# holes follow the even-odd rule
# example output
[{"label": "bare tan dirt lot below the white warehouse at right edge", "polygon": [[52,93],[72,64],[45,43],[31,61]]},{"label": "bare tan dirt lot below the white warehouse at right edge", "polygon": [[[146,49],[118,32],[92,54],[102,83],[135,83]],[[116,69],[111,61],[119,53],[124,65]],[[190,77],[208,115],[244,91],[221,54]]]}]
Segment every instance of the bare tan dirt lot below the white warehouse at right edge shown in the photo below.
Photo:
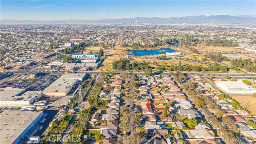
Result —
[{"label": "bare tan dirt lot below the white warehouse at right edge", "polygon": [[239,102],[242,106],[243,103],[248,104],[248,110],[250,110],[251,114],[256,115],[256,98],[253,96],[231,96],[234,100]]}]

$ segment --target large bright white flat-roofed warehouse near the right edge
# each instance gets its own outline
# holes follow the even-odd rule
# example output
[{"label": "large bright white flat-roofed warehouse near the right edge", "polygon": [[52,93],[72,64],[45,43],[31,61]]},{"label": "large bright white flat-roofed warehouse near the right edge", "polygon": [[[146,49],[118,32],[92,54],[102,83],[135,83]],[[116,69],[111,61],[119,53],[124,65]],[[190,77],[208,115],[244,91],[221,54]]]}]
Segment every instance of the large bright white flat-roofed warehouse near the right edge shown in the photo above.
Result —
[{"label": "large bright white flat-roofed warehouse near the right edge", "polygon": [[244,84],[242,81],[237,82],[215,82],[216,86],[224,90],[227,94],[253,94],[256,92],[255,88]]}]

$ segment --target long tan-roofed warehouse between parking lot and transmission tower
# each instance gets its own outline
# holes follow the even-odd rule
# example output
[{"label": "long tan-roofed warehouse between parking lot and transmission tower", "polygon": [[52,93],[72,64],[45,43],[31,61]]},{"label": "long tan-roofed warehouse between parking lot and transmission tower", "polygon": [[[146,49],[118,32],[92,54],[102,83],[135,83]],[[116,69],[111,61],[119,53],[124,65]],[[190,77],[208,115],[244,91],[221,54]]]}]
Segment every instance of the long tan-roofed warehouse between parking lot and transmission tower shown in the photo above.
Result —
[{"label": "long tan-roofed warehouse between parking lot and transmission tower", "polygon": [[77,82],[82,82],[86,74],[63,74],[43,94],[47,96],[66,96]]}]

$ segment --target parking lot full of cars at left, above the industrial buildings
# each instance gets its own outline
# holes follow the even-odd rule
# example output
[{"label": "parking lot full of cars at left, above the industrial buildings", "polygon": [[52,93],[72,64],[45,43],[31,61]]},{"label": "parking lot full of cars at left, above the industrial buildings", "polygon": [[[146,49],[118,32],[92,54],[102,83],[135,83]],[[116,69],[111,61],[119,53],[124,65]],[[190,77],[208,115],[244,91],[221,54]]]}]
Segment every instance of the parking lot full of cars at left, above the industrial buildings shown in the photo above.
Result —
[{"label": "parking lot full of cars at left, above the industrial buildings", "polygon": [[[26,78],[27,75],[21,75],[21,79]],[[52,82],[54,82],[59,76],[58,75],[41,75],[34,79],[26,80],[12,80],[6,84],[3,84],[1,88],[12,87],[12,88],[26,88],[27,90],[44,90]]]}]

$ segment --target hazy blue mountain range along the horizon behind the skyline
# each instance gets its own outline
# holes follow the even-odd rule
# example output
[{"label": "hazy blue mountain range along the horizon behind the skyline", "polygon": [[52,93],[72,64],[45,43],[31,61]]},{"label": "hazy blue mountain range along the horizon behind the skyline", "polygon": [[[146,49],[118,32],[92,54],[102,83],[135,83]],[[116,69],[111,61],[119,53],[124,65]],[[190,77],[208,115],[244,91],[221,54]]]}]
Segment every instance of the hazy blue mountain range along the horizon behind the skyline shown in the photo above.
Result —
[{"label": "hazy blue mountain range along the horizon behind the skyline", "polygon": [[102,19],[102,20],[1,20],[0,24],[89,24],[89,23],[152,23],[152,24],[256,24],[256,15],[216,15],[216,16],[184,16],[184,17],[170,17],[170,18],[116,18],[116,19]]}]

